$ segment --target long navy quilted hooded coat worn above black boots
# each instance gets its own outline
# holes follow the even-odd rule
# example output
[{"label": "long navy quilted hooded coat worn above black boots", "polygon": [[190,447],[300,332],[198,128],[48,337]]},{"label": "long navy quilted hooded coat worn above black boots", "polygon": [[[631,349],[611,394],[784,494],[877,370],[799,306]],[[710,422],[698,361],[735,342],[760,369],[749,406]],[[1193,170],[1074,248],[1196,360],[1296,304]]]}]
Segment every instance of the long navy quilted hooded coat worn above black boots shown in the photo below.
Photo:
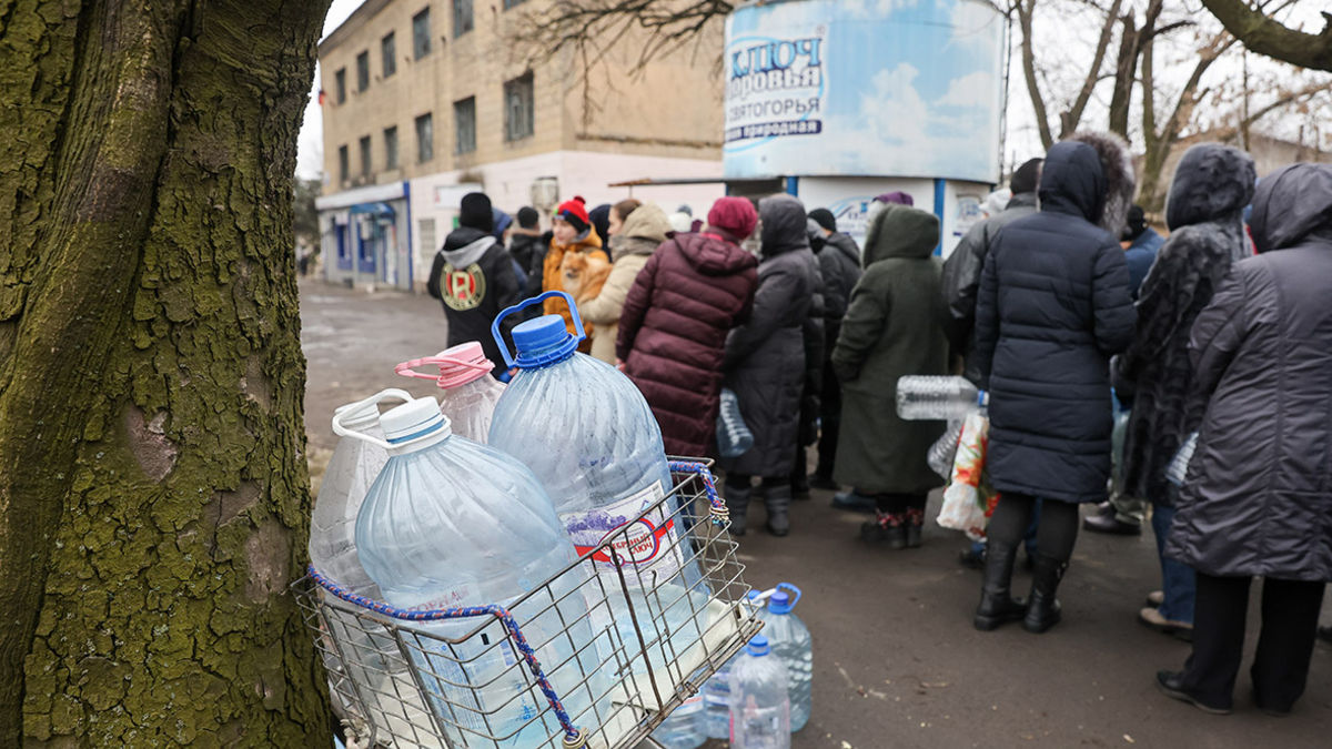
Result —
[{"label": "long navy quilted hooded coat worn above black boots", "polygon": [[[990,390],[986,464],[999,492],[1106,500],[1110,357],[1134,335],[1118,235],[1096,227],[1103,159],[1056,143],[1040,175],[1040,212],[999,231],[980,276],[976,365]],[[1131,172],[1130,172],[1131,173]]]}]

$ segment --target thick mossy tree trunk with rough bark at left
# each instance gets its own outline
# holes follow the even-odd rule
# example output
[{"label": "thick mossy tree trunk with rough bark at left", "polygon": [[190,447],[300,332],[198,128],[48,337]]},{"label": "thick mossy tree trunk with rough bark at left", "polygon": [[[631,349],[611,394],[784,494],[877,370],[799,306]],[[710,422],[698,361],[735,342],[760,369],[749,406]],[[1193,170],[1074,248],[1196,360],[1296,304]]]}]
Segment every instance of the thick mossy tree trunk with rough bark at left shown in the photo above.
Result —
[{"label": "thick mossy tree trunk with rough bark at left", "polygon": [[328,0],[0,0],[0,746],[328,745],[292,173]]}]

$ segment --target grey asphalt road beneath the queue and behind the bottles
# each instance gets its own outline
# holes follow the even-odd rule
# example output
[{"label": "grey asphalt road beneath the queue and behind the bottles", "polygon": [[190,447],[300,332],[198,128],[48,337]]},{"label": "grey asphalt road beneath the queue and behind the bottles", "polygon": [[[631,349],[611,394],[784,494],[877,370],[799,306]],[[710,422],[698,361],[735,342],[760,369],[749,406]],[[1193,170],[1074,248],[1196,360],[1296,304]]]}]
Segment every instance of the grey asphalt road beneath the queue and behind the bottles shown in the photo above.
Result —
[{"label": "grey asphalt road beneath the queue and behind the bottles", "polygon": [[[306,432],[314,472],[336,444],[333,409],[382,388],[428,394],[433,385],[393,365],[445,348],[444,313],[425,296],[366,295],[301,284],[301,343],[309,360]],[[963,746],[1332,746],[1332,646],[1313,654],[1308,690],[1285,718],[1259,713],[1247,670],[1236,712],[1217,717],[1156,692],[1154,674],[1179,668],[1188,645],[1136,622],[1159,584],[1155,545],[1083,533],[1060,589],[1064,621],[1035,636],[1020,626],[971,626],[979,573],[962,569],[960,534],[927,521],[924,545],[894,552],[858,540],[863,520],[797,502],[791,536],[757,528],[741,545],[754,586],[805,590],[795,613],[814,634],[814,714],[793,749]],[[931,517],[938,496],[931,502]],[[1019,573],[1015,588],[1026,590]],[[1252,653],[1257,585],[1249,612]],[[1324,605],[1332,622],[1332,602]],[[1245,665],[1247,669],[1247,665]],[[709,746],[722,746],[713,742]]]}]

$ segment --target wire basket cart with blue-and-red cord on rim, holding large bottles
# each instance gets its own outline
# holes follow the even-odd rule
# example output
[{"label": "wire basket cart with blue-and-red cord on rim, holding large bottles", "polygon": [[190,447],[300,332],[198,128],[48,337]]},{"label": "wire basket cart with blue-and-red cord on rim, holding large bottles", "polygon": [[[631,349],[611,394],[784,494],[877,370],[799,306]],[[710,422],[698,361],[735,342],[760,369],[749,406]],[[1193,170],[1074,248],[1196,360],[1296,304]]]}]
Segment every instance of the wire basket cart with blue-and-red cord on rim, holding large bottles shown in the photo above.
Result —
[{"label": "wire basket cart with blue-and-red cord on rim, holding large bottles", "polygon": [[[349,742],[650,742],[653,729],[762,628],[707,464],[670,466],[674,490],[505,605],[394,609],[310,568],[292,589]],[[643,557],[658,561],[639,564]]]}]

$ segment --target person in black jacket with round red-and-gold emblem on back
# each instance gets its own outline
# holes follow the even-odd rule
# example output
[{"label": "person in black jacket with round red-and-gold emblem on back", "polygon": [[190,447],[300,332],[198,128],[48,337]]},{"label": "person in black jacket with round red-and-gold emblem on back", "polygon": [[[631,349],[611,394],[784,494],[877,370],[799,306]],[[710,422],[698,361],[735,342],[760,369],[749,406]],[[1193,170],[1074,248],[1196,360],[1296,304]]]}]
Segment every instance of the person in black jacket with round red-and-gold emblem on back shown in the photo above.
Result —
[{"label": "person in black jacket with round red-and-gold emblem on back", "polygon": [[[486,359],[494,364],[492,374],[505,371],[503,356],[490,335],[490,323],[506,307],[518,304],[521,289],[513,272],[513,259],[492,235],[494,219],[485,193],[462,196],[458,228],[449,232],[444,248],[434,256],[426,291],[444,304],[449,321],[448,347],[481,341]],[[518,320],[513,316],[501,325],[507,335]]]}]

